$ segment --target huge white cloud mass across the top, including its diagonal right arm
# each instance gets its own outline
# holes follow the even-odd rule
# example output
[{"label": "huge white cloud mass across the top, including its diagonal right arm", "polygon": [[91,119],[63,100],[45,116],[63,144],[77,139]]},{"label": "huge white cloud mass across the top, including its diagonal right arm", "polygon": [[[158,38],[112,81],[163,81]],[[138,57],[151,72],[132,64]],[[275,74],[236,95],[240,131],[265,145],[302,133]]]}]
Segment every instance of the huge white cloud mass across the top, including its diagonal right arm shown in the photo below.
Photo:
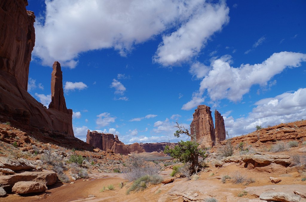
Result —
[{"label": "huge white cloud mass across the top, including its diagonal right arm", "polygon": [[125,56],[134,45],[174,27],[179,29],[163,37],[155,58],[163,64],[181,62],[197,54],[229,19],[223,1],[46,0],[45,4],[44,15],[36,18],[33,56],[43,65],[58,60],[70,68],[77,65],[81,52],[113,48]]}]

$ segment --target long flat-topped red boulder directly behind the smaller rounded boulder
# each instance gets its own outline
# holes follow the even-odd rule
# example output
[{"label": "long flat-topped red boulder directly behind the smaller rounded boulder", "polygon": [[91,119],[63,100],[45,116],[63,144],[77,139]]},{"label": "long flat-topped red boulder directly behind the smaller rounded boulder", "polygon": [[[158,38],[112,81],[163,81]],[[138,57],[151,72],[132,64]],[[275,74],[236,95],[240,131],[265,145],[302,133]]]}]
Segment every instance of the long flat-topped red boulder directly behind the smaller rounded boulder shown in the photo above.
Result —
[{"label": "long flat-topped red boulder directly behind the smaller rounded boulder", "polygon": [[14,175],[0,176],[0,185],[7,192],[10,192],[14,184],[20,181],[42,182],[48,186],[53,185],[57,181],[57,175],[54,171],[43,170],[42,172],[24,171],[22,173],[15,173]]}]

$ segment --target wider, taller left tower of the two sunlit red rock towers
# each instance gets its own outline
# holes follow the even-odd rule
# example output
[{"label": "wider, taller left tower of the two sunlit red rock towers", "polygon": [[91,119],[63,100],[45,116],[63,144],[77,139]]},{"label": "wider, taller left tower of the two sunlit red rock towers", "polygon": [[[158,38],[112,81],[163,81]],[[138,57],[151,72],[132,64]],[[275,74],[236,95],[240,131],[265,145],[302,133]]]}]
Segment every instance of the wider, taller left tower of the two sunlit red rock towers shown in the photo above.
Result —
[{"label": "wider, taller left tower of the two sunlit red rock towers", "polygon": [[199,105],[193,113],[190,130],[191,135],[194,134],[194,126],[196,129],[196,142],[200,144],[200,147],[204,148],[215,145],[215,127],[209,106]]}]

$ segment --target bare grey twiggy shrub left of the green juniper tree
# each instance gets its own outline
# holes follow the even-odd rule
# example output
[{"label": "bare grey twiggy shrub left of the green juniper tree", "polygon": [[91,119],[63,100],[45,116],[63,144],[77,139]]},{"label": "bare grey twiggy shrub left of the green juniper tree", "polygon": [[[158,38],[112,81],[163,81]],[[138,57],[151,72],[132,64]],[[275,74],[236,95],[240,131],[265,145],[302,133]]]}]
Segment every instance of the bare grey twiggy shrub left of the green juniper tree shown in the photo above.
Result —
[{"label": "bare grey twiggy shrub left of the green juniper tree", "polygon": [[132,154],[127,161],[129,172],[125,174],[125,178],[130,182],[144,175],[158,175],[160,167],[157,164],[145,161],[144,157],[137,154]]}]

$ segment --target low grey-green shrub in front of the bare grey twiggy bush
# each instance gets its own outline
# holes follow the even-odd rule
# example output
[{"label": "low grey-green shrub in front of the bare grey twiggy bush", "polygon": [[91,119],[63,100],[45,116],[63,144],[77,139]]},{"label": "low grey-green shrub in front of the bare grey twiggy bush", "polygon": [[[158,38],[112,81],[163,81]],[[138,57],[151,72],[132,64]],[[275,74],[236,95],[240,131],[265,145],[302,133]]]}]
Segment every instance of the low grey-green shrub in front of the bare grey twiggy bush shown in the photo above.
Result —
[{"label": "low grey-green shrub in front of the bare grey twiggy bush", "polygon": [[160,175],[144,175],[134,181],[134,183],[126,191],[126,194],[129,194],[131,191],[142,191],[150,184],[157,185],[160,182],[162,182],[162,176]]}]

